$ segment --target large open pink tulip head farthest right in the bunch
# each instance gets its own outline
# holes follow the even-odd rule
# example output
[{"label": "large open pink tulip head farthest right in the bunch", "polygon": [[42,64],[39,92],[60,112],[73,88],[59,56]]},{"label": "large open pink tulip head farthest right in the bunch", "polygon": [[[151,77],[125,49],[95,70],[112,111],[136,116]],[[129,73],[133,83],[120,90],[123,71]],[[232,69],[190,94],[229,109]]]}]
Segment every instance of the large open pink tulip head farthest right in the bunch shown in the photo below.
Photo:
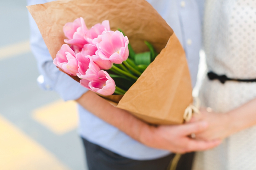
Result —
[{"label": "large open pink tulip head farthest right in the bunch", "polygon": [[102,60],[121,64],[129,56],[129,40],[120,31],[107,31],[102,34],[102,41],[97,45],[98,55]]}]

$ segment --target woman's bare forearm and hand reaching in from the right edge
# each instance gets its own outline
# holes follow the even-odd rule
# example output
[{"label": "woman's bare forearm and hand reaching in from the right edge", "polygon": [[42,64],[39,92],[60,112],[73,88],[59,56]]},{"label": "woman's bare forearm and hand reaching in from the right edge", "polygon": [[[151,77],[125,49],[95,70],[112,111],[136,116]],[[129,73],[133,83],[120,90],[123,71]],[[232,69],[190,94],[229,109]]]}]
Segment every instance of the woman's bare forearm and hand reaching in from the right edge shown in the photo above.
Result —
[{"label": "woman's bare forearm and hand reaching in from the right edge", "polygon": [[200,115],[195,115],[191,122],[207,121],[206,130],[197,133],[198,139],[224,139],[236,132],[256,125],[256,99],[227,113],[210,113],[201,109]]}]

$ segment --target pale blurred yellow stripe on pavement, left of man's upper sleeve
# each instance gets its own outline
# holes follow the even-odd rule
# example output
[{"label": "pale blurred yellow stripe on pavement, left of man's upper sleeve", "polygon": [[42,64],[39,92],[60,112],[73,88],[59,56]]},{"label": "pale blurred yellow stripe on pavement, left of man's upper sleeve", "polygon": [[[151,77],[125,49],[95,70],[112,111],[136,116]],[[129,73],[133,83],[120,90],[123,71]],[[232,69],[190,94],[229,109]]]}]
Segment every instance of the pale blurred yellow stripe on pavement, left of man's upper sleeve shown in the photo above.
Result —
[{"label": "pale blurred yellow stripe on pavement, left of man's upper sleeve", "polygon": [[29,40],[0,47],[0,60],[30,52]]}]

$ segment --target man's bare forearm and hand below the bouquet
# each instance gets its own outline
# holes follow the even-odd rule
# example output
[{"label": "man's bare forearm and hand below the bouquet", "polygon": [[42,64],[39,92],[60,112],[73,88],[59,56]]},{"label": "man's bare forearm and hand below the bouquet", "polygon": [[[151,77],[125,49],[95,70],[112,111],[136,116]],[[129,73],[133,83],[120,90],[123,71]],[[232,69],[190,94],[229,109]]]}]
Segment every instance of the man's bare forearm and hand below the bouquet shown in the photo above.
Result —
[{"label": "man's bare forearm and hand below the bouquet", "polygon": [[117,127],[144,145],[185,153],[206,150],[220,144],[220,140],[193,140],[188,135],[199,133],[208,126],[207,122],[194,122],[172,126],[150,126],[125,110],[115,108],[105,99],[88,91],[76,100],[82,107],[105,122]]}]

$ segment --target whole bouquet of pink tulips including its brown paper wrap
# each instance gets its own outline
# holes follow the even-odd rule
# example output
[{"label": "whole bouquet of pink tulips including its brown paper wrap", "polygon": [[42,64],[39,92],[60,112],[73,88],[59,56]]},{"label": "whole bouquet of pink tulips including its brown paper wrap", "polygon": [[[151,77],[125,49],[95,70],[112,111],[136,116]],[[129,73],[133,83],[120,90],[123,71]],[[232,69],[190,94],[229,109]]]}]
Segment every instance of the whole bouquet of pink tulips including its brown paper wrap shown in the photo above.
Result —
[{"label": "whole bouquet of pink tulips including its brown paper wrap", "polygon": [[184,121],[192,102],[185,52],[148,2],[60,0],[27,8],[61,71],[146,122]]}]

